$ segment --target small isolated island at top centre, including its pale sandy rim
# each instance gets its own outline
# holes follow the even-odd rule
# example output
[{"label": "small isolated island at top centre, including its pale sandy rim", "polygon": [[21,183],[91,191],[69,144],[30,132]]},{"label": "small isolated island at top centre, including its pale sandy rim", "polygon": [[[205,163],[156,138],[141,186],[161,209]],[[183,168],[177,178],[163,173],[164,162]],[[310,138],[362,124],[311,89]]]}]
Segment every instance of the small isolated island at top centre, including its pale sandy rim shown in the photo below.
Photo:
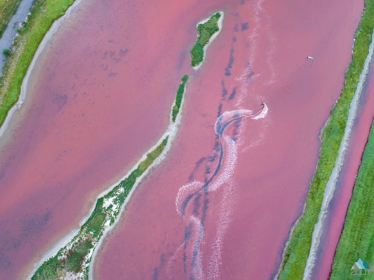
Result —
[{"label": "small isolated island at top centre, including its pale sandy rim", "polygon": [[[222,16],[222,17],[221,17]],[[206,47],[209,42],[214,40],[222,29],[223,12],[218,12],[212,15],[208,21],[201,21],[197,24],[197,36],[196,44],[193,46],[191,53],[191,66],[194,69],[198,69],[198,66],[203,62]],[[217,32],[217,33],[216,33]]]}]

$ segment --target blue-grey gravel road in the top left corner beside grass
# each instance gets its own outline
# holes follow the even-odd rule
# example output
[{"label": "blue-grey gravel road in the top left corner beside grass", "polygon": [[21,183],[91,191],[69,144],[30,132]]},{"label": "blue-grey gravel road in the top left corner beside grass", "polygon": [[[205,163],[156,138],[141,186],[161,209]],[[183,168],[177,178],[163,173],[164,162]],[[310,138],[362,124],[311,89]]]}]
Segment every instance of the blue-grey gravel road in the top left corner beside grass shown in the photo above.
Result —
[{"label": "blue-grey gravel road in the top left corner beside grass", "polygon": [[6,27],[3,37],[0,38],[0,69],[3,69],[5,56],[3,55],[4,49],[10,49],[13,39],[19,29],[19,23],[25,21],[27,14],[33,6],[34,0],[22,0],[18,9]]}]

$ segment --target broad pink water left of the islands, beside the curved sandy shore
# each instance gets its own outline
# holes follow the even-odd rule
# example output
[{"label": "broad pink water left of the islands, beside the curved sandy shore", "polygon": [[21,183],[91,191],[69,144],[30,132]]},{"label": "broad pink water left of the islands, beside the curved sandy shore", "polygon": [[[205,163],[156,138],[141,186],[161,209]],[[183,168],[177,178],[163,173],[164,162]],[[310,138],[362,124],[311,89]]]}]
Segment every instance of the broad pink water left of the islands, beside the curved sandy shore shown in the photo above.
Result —
[{"label": "broad pink water left of the islands, beside the curved sandy shore", "polygon": [[1,146],[0,279],[29,273],[165,132],[195,36],[168,16],[82,1],[47,44]]}]

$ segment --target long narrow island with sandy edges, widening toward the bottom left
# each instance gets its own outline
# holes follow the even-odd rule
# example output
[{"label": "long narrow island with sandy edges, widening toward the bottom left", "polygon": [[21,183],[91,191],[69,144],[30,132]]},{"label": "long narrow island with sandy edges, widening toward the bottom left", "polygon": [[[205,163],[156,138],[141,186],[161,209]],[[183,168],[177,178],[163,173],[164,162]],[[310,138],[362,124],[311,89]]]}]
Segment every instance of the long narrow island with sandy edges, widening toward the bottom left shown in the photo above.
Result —
[{"label": "long narrow island with sandy edges, widening toward the bottom left", "polygon": [[44,261],[37,268],[31,280],[77,279],[77,277],[88,280],[93,252],[96,246],[100,244],[101,237],[105,232],[111,230],[123,209],[126,198],[134,191],[137,183],[142,179],[142,175],[145,175],[145,172],[152,165],[159,162],[156,159],[163,159],[162,156],[167,151],[165,147],[168,144],[168,140],[172,140],[175,136],[177,131],[175,119],[181,108],[188,75],[184,75],[181,80],[182,83],[179,85],[175,105],[171,113],[173,121],[160,139],[160,143],[155,148],[150,149],[151,152],[147,154],[144,161],[141,161],[131,174],[123,178],[106,195],[97,199],[92,214],[82,225],[79,233],[67,245],[59,249],[55,255]]}]

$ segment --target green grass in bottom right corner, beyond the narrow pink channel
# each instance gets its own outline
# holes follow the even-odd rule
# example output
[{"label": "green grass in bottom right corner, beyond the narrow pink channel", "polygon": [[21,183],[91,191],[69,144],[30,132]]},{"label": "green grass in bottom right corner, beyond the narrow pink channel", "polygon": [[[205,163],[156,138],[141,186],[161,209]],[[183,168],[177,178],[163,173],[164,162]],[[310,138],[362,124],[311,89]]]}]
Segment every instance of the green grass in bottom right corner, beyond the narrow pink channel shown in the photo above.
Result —
[{"label": "green grass in bottom right corner, beyond the narrow pink channel", "polygon": [[365,259],[370,266],[374,264],[374,123],[362,156],[330,279],[359,279],[350,275],[350,268],[359,258]]}]

